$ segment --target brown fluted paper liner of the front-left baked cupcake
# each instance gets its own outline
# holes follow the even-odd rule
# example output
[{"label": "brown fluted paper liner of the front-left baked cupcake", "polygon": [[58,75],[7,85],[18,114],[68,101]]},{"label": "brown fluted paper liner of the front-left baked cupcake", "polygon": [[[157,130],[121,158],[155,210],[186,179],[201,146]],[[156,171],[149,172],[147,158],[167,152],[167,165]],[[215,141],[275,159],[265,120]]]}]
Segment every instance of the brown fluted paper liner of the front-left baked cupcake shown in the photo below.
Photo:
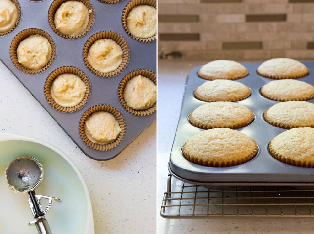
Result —
[{"label": "brown fluted paper liner of the front-left baked cupcake", "polygon": [[255,157],[255,155],[257,155],[257,151],[258,151],[258,146],[257,146],[257,143],[252,139],[252,141],[254,142],[255,144],[255,149],[253,150],[253,152],[246,156],[245,158],[243,159],[238,159],[238,160],[233,160],[233,161],[203,161],[203,160],[200,160],[197,158],[197,156],[195,155],[191,155],[187,152],[184,152],[184,146],[185,146],[185,143],[182,147],[182,155],[187,159],[189,160],[190,162],[192,163],[195,163],[195,164],[198,164],[198,165],[201,165],[201,166],[207,166],[207,167],[230,167],[230,166],[236,166],[236,165],[240,165],[240,164],[243,164],[243,163],[246,163],[248,161],[250,161],[251,159],[253,159]]}]

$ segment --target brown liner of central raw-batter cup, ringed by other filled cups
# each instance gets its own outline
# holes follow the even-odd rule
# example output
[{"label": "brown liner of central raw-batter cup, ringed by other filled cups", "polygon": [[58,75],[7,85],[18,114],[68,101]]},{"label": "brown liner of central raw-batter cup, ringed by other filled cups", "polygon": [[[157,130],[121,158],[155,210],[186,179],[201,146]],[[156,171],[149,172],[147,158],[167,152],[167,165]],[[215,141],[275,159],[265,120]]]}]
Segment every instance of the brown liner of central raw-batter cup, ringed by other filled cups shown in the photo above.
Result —
[{"label": "brown liner of central raw-batter cup, ringed by other filled cups", "polygon": [[[114,40],[118,45],[121,46],[122,48],[122,52],[123,52],[123,57],[122,57],[122,63],[120,64],[120,66],[111,72],[108,73],[103,73],[103,72],[99,72],[96,71],[88,62],[87,60],[87,55],[88,55],[88,51],[89,48],[91,47],[91,45],[99,39],[112,39]],[[101,77],[111,77],[114,75],[119,74],[120,72],[122,72],[125,67],[127,66],[129,60],[130,60],[130,49],[129,49],[129,45],[127,44],[127,41],[118,33],[116,32],[112,32],[112,31],[101,31],[98,33],[95,33],[94,35],[92,35],[85,43],[84,45],[84,49],[83,49],[83,59],[84,59],[84,63],[87,66],[87,68],[93,72],[95,75],[101,76]]]}]

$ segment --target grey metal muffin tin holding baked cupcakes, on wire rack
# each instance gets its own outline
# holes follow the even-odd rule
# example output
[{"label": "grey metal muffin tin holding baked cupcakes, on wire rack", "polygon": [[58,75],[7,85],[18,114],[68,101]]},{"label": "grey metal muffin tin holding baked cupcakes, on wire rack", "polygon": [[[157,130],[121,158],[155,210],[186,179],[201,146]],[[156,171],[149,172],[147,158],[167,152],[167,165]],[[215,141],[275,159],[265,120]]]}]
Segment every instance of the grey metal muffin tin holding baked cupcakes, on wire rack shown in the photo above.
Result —
[{"label": "grey metal muffin tin holding baked cupcakes, on wire rack", "polygon": [[[275,127],[263,118],[263,112],[278,103],[263,97],[260,88],[274,79],[257,74],[257,67],[261,63],[243,63],[249,70],[249,75],[235,80],[243,83],[252,90],[251,96],[237,101],[251,109],[255,114],[254,121],[243,128],[236,129],[254,139],[258,144],[258,153],[250,161],[231,167],[207,167],[194,164],[184,158],[181,153],[183,144],[194,134],[203,129],[194,127],[188,121],[188,115],[205,101],[194,97],[194,90],[207,82],[197,75],[201,66],[194,68],[187,79],[186,91],[183,98],[181,115],[176,135],[171,149],[168,169],[172,175],[183,181],[196,185],[314,185],[314,168],[304,168],[288,165],[274,159],[268,150],[268,143],[287,129]],[[309,75],[297,79],[314,85],[313,62],[304,62],[310,70]],[[314,99],[309,100],[314,103]],[[313,145],[314,147],[314,145]]]}]

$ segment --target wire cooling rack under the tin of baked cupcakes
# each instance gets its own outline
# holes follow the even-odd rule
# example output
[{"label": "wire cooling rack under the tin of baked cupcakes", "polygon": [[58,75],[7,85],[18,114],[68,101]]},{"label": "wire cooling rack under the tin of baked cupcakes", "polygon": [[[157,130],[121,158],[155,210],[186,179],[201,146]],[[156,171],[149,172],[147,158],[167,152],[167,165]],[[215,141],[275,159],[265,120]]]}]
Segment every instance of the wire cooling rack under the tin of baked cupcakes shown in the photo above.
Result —
[{"label": "wire cooling rack under the tin of baked cupcakes", "polygon": [[313,217],[314,190],[287,186],[237,186],[213,190],[168,176],[164,218]]}]

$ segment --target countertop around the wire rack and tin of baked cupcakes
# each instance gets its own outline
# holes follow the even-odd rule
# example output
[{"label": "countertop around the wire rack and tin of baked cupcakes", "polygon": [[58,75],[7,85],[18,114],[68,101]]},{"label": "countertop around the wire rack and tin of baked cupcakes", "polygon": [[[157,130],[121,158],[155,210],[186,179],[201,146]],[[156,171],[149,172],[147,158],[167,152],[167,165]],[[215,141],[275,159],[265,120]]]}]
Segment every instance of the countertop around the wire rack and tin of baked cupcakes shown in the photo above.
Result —
[{"label": "countertop around the wire rack and tin of baked cupcakes", "polygon": [[189,71],[207,61],[158,61],[157,233],[313,233],[313,219],[164,219],[161,201],[166,191],[167,164],[178,124],[184,83]]}]

